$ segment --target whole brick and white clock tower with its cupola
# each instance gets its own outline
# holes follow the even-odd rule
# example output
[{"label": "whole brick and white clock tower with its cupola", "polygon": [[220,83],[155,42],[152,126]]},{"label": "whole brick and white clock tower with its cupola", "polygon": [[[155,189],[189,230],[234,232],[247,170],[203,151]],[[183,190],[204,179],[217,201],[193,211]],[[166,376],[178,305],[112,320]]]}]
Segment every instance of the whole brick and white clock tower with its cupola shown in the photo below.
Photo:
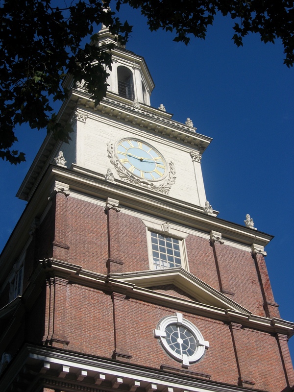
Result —
[{"label": "whole brick and white clock tower with its cupola", "polygon": [[272,237],[206,199],[211,138],[172,120],[143,57],[114,43],[107,96],[84,81],[45,139],[0,255],[0,390],[293,391],[288,339],[265,264]]}]

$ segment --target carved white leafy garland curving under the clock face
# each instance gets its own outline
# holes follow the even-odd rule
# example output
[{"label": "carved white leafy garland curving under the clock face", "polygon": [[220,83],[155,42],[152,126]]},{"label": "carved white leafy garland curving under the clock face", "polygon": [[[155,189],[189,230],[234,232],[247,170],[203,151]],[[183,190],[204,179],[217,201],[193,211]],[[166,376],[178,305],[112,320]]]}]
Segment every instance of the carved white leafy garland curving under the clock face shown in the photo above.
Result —
[{"label": "carved white leafy garland curving under the clock face", "polygon": [[114,145],[111,142],[107,143],[107,153],[110,162],[113,164],[113,166],[115,167],[116,171],[118,172],[122,180],[130,182],[135,185],[140,185],[144,188],[148,188],[156,192],[161,192],[164,195],[169,195],[170,189],[176,179],[174,165],[172,162],[169,163],[168,176],[165,179],[165,181],[161,182],[160,184],[159,183],[154,184],[151,181],[148,181],[146,179],[143,180],[128,172],[116,157]]}]

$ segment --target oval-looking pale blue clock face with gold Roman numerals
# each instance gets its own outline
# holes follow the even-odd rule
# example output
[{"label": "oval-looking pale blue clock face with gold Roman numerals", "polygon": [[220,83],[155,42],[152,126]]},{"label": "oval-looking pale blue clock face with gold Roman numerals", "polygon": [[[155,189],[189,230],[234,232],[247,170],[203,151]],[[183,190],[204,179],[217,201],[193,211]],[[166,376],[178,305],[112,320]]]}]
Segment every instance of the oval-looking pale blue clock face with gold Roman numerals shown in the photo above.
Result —
[{"label": "oval-looking pale blue clock face with gold Roman numerals", "polygon": [[117,145],[116,154],[124,168],[137,177],[155,181],[166,174],[162,155],[146,142],[123,139]]}]

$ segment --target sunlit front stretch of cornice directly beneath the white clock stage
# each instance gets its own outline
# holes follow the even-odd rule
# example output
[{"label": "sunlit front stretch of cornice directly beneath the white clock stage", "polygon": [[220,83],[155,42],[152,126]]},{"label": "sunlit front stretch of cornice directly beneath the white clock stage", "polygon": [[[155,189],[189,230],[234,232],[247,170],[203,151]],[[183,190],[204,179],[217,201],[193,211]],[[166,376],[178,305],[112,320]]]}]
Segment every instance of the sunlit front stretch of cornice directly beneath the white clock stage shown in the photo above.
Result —
[{"label": "sunlit front stretch of cornice directly beneath the white clock stage", "polygon": [[[77,166],[74,166],[73,169],[73,171],[64,171],[52,166],[47,177],[44,177],[44,181],[49,181],[51,176],[60,178],[70,184],[71,191],[104,200],[107,197],[118,199],[121,207],[130,207],[138,212],[156,215],[162,217],[164,221],[184,223],[185,226],[201,230],[204,233],[210,233],[213,230],[221,233],[224,238],[240,242],[243,245],[251,246],[252,243],[255,243],[265,246],[272,239],[272,236],[268,234],[249,231],[245,226],[203,214],[203,209],[194,204],[183,203],[170,196],[135,187],[120,179],[116,180],[116,184],[111,183],[110,187],[103,175],[99,176],[97,173]],[[94,178],[95,181],[93,181]]]}]

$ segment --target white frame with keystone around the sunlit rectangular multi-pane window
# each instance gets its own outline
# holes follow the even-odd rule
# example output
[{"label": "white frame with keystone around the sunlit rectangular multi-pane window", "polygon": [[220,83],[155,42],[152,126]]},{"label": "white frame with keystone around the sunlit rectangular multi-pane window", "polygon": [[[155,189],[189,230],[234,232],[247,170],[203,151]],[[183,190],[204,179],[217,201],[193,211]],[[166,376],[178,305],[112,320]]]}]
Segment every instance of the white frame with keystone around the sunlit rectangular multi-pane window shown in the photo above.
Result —
[{"label": "white frame with keystone around the sunlit rectangular multi-pane window", "polygon": [[[186,244],[185,244],[185,239],[188,237],[189,233],[183,231],[181,227],[165,221],[155,221],[155,220],[149,221],[149,220],[142,219],[142,222],[146,226],[148,259],[149,259],[150,270],[155,270],[154,263],[153,263],[152,243],[151,243],[151,232],[154,232],[166,237],[171,237],[179,240],[180,254],[181,254],[181,268],[189,271],[188,257],[187,257]],[[167,267],[166,269],[169,269],[169,267]],[[163,270],[165,270],[165,268],[163,268]]]}]

